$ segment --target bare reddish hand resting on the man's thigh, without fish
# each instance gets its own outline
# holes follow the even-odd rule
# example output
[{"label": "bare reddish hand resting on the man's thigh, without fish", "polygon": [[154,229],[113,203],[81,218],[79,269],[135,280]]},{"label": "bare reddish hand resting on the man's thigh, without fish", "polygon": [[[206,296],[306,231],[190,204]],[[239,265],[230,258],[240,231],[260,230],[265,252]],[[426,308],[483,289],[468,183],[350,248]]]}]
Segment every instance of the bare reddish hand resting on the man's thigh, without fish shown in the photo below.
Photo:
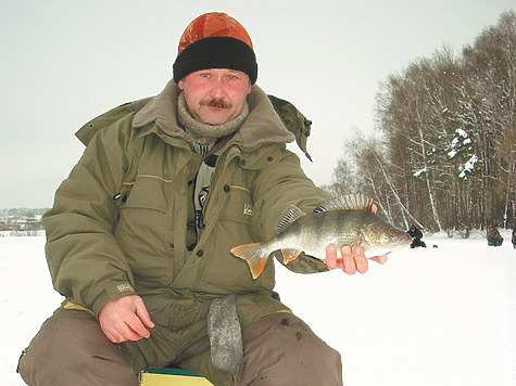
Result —
[{"label": "bare reddish hand resting on the man's thigh, without fish", "polygon": [[99,311],[100,327],[113,343],[139,340],[150,336],[154,326],[143,300],[138,295],[128,295],[108,301]]}]

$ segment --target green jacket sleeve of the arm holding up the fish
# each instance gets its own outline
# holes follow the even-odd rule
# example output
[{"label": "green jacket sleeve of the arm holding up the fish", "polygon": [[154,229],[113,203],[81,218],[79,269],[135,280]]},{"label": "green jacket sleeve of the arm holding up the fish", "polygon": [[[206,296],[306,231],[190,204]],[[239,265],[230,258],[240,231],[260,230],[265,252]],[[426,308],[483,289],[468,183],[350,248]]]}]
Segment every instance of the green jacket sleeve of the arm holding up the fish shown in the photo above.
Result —
[{"label": "green jacket sleeve of the arm holding up the fish", "polygon": [[[278,158],[277,162],[261,169],[254,182],[253,229],[261,240],[275,236],[279,217],[289,205],[295,205],[310,213],[317,204],[329,197],[328,193],[317,188],[306,177],[295,154],[284,147]],[[284,263],[278,255],[276,259]],[[304,254],[286,267],[298,273],[328,270],[323,261]]]}]

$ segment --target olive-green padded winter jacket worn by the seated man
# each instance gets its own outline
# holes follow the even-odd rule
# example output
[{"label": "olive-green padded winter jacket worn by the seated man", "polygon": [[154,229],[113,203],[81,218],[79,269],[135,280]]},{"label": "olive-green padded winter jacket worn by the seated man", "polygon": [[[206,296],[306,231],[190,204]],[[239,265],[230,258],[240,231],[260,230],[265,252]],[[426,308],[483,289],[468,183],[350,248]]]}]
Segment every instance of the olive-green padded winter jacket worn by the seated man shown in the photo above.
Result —
[{"label": "olive-green padded winter jacket worn by the seated man", "polygon": [[[288,205],[310,210],[327,194],[286,149],[294,136],[253,86],[247,120],[217,151],[205,229],[188,252],[192,152],[176,116],[178,92],[171,81],[155,98],[109,112],[78,132],[87,149],[43,216],[52,281],[96,316],[108,300],[138,294],[155,323],[178,327],[205,312],[200,303],[237,294],[246,326],[287,307],[273,292],[272,258],[253,280],[248,263],[229,250],[273,237]],[[327,270],[309,256],[287,267]]]}]

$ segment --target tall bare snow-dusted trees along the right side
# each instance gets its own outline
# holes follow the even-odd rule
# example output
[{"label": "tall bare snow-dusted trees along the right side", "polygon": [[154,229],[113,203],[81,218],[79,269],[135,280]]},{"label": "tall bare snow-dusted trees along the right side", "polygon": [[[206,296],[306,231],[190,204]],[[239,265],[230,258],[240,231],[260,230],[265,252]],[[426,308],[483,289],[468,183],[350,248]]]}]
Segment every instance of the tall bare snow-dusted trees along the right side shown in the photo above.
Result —
[{"label": "tall bare snow-dusted trees along the right side", "polygon": [[390,75],[375,101],[375,134],[344,145],[326,188],[374,196],[405,229],[516,224],[515,53],[507,11],[460,55],[444,47]]}]

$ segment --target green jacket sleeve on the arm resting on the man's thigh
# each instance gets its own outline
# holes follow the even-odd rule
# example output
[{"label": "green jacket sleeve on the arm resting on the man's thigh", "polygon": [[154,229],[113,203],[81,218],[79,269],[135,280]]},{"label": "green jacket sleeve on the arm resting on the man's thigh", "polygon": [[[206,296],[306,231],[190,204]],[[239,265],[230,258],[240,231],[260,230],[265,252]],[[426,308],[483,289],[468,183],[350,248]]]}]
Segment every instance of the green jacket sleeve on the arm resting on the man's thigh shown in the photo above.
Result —
[{"label": "green jacket sleeve on the arm resting on the man's thigh", "polygon": [[43,216],[54,288],[96,316],[108,300],[134,294],[130,268],[113,235],[118,219],[113,196],[127,170],[128,121],[92,138]]}]

